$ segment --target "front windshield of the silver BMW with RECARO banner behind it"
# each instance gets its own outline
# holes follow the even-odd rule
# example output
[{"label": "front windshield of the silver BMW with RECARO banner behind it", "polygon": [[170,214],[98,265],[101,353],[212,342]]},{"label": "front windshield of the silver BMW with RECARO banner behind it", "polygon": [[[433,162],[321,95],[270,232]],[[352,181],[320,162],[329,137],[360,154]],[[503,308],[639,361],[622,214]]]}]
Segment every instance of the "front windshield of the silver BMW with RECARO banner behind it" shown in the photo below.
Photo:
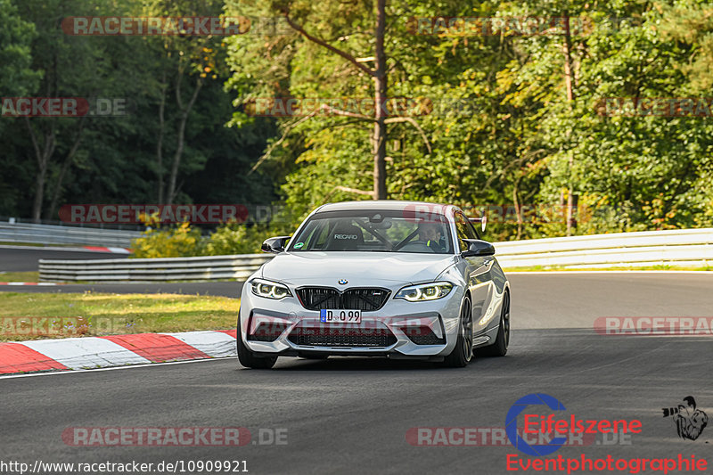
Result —
[{"label": "front windshield of the silver BMW with RECARO banner behind it", "polygon": [[325,211],[309,218],[288,250],[451,254],[450,229],[441,215],[428,220],[403,210]]}]

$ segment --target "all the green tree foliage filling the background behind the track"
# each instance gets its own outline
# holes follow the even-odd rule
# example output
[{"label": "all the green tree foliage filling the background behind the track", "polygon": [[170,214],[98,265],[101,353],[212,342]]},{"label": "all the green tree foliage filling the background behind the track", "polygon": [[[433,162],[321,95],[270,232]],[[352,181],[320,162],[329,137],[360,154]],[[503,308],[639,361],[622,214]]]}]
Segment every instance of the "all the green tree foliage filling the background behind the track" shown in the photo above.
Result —
[{"label": "all the green tree foliage filling the background behind the track", "polygon": [[[3,96],[119,96],[130,115],[87,120],[76,155],[62,160],[76,119],[32,119],[54,146],[45,176],[45,216],[61,203],[160,201],[179,149],[175,202],[281,201],[270,227],[225,225],[210,236],[190,226],[160,228],[146,256],[243,253],[288,234],[326,201],[369,199],[373,188],[368,117],[250,115],[260,98],[371,98],[373,78],[289,28],[284,12],[315,37],[370,67],[372,0],[0,0]],[[71,37],[56,20],[72,15],[250,17],[234,37]],[[561,17],[588,21],[571,37],[574,100],[564,86],[559,34],[414,35],[410,17]],[[576,233],[713,225],[713,120],[602,114],[605,98],[710,97],[713,16],[699,0],[523,0],[387,2],[389,97],[432,103],[409,118],[389,116],[389,198],[545,209],[578,196]],[[269,21],[267,19],[275,19]],[[621,20],[630,19],[630,20]],[[51,93],[47,93],[47,88]],[[159,117],[166,100],[164,127]],[[466,110],[448,108],[461,101]],[[0,215],[29,216],[38,164],[28,123],[0,118]],[[160,131],[163,130],[163,135]],[[162,137],[163,162],[157,159]],[[572,165],[570,166],[570,159]],[[66,174],[65,174],[66,172]],[[64,175],[63,175],[64,174]],[[63,179],[62,179],[63,176]],[[57,197],[58,203],[53,203]],[[56,216],[56,214],[54,214]],[[50,216],[53,217],[53,216]],[[491,220],[488,239],[565,233],[561,216]],[[165,248],[165,249],[164,249]]]}]

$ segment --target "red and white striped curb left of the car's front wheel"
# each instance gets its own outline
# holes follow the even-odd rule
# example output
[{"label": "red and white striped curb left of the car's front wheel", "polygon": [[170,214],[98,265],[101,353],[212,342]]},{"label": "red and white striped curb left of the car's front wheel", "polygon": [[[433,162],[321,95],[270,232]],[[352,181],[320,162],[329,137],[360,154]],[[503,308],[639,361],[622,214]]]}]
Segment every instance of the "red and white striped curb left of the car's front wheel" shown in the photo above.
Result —
[{"label": "red and white striped curb left of the car's front wheel", "polygon": [[138,333],[0,343],[0,374],[235,356],[235,330]]}]

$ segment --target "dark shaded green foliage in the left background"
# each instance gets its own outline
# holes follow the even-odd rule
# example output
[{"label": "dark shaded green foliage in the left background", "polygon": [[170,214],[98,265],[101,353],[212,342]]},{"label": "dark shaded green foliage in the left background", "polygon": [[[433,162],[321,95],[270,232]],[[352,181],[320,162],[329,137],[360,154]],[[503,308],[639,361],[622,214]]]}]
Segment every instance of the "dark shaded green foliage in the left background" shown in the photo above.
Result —
[{"label": "dark shaded green foliage in the left background", "polygon": [[[58,26],[61,18],[70,16],[178,16],[193,11],[219,15],[221,10],[219,0],[2,0],[1,96],[124,98],[127,115],[84,120],[78,151],[66,167],[63,160],[71,150],[80,119],[37,118],[28,124],[24,119],[0,118],[4,145],[0,168],[5,170],[0,174],[0,216],[31,216],[38,164],[28,125],[36,131],[40,150],[44,150],[46,137],[53,137],[43,218],[58,219],[57,209],[62,204],[159,202],[160,171],[168,177],[177,148],[179,68],[184,70],[184,102],[193,93],[196,78],[201,74],[205,78],[201,78],[201,94],[186,121],[174,202],[274,201],[278,185],[269,170],[251,176],[247,173],[266,140],[275,134],[275,127],[265,122],[225,127],[234,107],[230,94],[223,90],[229,71],[222,37],[75,37]],[[208,45],[197,45],[199,41],[194,40]],[[168,86],[163,164],[159,167],[156,155],[163,78]],[[58,200],[52,206],[54,194]]]}]

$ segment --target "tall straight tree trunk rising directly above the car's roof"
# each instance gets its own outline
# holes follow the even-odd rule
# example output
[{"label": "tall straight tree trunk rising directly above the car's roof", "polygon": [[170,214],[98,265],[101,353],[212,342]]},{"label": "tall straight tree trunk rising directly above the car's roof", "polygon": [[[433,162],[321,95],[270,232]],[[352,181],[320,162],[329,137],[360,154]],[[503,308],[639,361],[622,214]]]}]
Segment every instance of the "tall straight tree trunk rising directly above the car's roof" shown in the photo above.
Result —
[{"label": "tall straight tree trunk rising directly above the car's roof", "polygon": [[374,82],[374,102],[376,117],[373,125],[373,199],[386,200],[386,106],[387,75],[384,35],[386,29],[386,0],[377,0],[376,12],[376,74]]}]

